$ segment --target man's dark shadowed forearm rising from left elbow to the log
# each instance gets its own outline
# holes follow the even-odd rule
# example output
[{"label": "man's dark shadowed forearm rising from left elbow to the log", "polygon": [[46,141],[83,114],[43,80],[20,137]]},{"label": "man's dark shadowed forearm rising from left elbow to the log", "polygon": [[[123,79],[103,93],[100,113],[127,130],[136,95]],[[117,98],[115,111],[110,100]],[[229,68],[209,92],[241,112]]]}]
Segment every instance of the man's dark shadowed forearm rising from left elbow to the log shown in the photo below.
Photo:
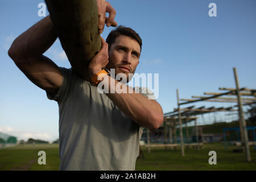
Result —
[{"label": "man's dark shadowed forearm rising from left elbow to the log", "polygon": [[41,56],[52,46],[56,39],[57,34],[52,20],[47,16],[14,40],[9,49],[9,55],[14,60],[23,57]]}]

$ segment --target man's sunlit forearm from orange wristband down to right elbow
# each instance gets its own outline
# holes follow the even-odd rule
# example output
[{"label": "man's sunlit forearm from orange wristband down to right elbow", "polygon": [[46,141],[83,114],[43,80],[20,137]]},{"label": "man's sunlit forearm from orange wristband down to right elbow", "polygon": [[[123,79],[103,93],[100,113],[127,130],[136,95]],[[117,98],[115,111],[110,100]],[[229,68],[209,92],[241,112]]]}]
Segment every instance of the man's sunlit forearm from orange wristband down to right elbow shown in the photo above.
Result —
[{"label": "man's sunlit forearm from orange wristband down to right elbow", "polygon": [[[135,93],[129,86],[122,84],[110,76],[100,83],[108,85],[106,96],[133,121],[148,129],[158,129],[163,123],[162,107],[155,100],[148,100],[142,94]],[[120,92],[121,90],[123,92]],[[112,89],[112,90],[111,90]],[[114,93],[113,93],[114,91]]]}]

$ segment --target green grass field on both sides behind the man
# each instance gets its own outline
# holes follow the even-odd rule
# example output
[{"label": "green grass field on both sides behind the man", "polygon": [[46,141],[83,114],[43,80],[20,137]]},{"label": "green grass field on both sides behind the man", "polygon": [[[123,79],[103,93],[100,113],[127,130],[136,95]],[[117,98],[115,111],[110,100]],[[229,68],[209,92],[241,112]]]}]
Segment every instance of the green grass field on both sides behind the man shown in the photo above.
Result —
[{"label": "green grass field on both sides behind the man", "polygon": [[[245,160],[245,154],[234,153],[237,147],[225,147],[220,143],[204,144],[197,151],[196,148],[185,150],[181,156],[179,148],[170,150],[151,148],[150,154],[142,147],[144,159],[137,159],[136,170],[256,170],[256,151],[250,148],[251,162]],[[46,165],[38,164],[38,152],[46,152]],[[208,163],[209,151],[217,152],[217,164]],[[58,144],[23,144],[0,150],[0,170],[59,170]]]}]

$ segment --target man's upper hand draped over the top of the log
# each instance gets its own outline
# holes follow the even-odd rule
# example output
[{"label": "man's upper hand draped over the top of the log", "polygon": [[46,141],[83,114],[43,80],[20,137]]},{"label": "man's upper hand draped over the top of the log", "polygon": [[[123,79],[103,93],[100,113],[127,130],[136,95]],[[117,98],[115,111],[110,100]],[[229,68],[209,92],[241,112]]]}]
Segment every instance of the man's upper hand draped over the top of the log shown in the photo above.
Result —
[{"label": "man's upper hand draped over the top of the log", "polygon": [[[110,3],[105,0],[97,0],[97,5],[98,5],[98,32],[101,34],[104,30],[105,23],[107,27],[117,26],[117,22],[115,22],[114,20],[116,11],[110,5]],[[109,13],[109,17],[106,17],[106,12]]]}]

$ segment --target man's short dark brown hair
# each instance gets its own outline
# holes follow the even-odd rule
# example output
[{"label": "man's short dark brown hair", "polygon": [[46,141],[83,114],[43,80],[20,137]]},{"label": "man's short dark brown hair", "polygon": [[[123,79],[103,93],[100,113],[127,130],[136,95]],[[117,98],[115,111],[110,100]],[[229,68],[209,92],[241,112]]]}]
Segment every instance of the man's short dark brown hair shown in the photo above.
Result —
[{"label": "man's short dark brown hair", "polygon": [[110,50],[112,44],[115,42],[115,39],[119,35],[129,36],[131,39],[136,40],[138,42],[139,46],[142,48],[142,40],[141,40],[141,37],[139,36],[139,34],[137,34],[137,32],[135,32],[132,28],[120,25],[120,26],[116,27],[114,30],[112,30],[109,33],[108,38],[106,38],[106,43],[109,44],[109,50]]}]

